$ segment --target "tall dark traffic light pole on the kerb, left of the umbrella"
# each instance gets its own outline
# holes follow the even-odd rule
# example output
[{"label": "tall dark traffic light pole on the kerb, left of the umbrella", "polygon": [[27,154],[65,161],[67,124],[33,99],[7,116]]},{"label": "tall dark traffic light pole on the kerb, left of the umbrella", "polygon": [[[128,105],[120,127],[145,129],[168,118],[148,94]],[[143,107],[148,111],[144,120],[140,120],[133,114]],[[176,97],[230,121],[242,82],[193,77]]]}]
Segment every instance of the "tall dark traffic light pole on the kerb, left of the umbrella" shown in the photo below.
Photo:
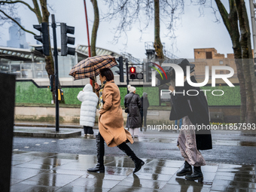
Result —
[{"label": "tall dark traffic light pole on the kerb, left of the umbrella", "polygon": [[56,109],[56,132],[59,132],[59,100],[58,100],[58,87],[59,87],[59,75],[58,75],[58,49],[56,39],[56,23],[54,14],[51,15],[52,28],[53,28],[53,45],[54,45],[54,76],[55,76],[55,109]]}]

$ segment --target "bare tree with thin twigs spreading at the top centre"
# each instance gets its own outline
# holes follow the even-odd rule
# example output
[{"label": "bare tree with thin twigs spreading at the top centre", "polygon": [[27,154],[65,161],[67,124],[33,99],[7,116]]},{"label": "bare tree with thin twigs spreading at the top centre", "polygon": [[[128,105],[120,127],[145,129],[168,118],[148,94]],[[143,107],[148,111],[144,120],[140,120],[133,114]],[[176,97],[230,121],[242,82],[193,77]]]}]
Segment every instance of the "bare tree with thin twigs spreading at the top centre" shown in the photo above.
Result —
[{"label": "bare tree with thin twigs spreading at the top centre", "polygon": [[[157,58],[163,59],[163,44],[160,41],[160,21],[169,29],[169,38],[175,39],[175,18],[183,13],[183,1],[181,0],[104,0],[108,5],[108,13],[105,20],[120,20],[114,28],[114,43],[126,35],[126,32],[133,28],[134,23],[142,26],[143,33],[148,28],[151,20],[154,19],[154,48]],[[145,20],[142,20],[142,16]],[[127,37],[127,35],[126,35]]]}]

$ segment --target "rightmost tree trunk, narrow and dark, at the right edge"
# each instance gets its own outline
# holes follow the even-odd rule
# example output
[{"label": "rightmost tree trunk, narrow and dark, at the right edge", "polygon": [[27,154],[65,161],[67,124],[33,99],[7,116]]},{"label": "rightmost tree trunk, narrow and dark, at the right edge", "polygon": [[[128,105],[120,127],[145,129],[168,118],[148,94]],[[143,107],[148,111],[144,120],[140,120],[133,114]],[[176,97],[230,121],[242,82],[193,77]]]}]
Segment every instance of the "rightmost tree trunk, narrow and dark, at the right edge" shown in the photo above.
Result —
[{"label": "rightmost tree trunk, narrow and dark, at the right edge", "polygon": [[252,52],[251,52],[251,33],[248,26],[248,15],[245,8],[245,2],[243,0],[236,0],[236,9],[239,17],[240,28],[240,44],[242,47],[242,63],[245,76],[245,90],[247,96],[247,114],[246,123],[255,123],[254,112],[254,91],[251,81],[251,64]]}]

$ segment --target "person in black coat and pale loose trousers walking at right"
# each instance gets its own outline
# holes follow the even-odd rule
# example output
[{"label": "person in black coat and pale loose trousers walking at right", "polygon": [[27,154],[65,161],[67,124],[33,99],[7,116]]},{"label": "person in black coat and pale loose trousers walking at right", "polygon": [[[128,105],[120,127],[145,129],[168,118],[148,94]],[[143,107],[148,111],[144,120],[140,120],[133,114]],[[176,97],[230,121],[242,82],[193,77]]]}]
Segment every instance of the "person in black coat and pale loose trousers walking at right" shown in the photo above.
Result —
[{"label": "person in black coat and pale loose trousers walking at right", "polygon": [[[209,126],[209,108],[205,93],[200,91],[200,87],[192,87],[187,83],[186,66],[190,66],[187,59],[178,64],[184,71],[184,87],[175,87],[175,72],[171,71],[171,84],[169,90],[171,93],[172,110],[169,120],[178,120],[183,117],[183,129],[178,136],[178,148],[184,157],[184,168],[177,172],[177,176],[185,176],[187,180],[203,181],[201,166],[206,165],[206,161],[199,150],[212,149],[211,130],[198,129],[199,125]],[[194,76],[188,77],[194,83],[197,83]],[[196,90],[197,95],[187,94],[187,90]],[[175,91],[175,93],[173,93]],[[190,91],[192,92],[192,91]],[[184,93],[184,94],[183,94]],[[185,129],[188,128],[188,129]],[[194,172],[192,173],[192,166]],[[192,174],[192,175],[191,175]]]}]

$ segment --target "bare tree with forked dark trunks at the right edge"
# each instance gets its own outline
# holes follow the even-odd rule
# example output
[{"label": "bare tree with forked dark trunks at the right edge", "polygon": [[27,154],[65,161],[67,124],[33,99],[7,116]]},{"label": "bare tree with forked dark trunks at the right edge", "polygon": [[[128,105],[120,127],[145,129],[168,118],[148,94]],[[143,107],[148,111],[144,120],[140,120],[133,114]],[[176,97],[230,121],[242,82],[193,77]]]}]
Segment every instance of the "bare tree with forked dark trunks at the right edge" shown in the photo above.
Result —
[{"label": "bare tree with forked dark trunks at the right edge", "polygon": [[212,0],[196,0],[194,2],[197,5],[212,8],[215,14],[217,11],[220,12],[230,35],[236,60],[241,96],[240,122],[255,123],[256,81],[254,63],[252,62],[251,34],[244,0],[230,0],[229,13],[221,0],[215,0],[218,10],[212,5]]}]

